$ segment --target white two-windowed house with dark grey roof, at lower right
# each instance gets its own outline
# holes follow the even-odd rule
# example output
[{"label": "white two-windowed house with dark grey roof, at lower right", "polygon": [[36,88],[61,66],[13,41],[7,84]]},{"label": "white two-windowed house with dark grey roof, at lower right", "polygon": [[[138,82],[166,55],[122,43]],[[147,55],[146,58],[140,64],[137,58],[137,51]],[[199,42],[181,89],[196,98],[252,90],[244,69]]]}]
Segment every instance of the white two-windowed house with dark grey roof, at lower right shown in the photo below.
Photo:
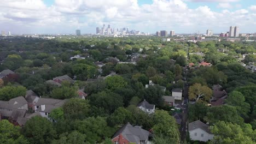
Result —
[{"label": "white two-windowed house with dark grey roof, at lower right", "polygon": [[188,130],[190,139],[194,141],[206,142],[212,140],[214,137],[211,133],[210,127],[199,120],[189,123]]}]

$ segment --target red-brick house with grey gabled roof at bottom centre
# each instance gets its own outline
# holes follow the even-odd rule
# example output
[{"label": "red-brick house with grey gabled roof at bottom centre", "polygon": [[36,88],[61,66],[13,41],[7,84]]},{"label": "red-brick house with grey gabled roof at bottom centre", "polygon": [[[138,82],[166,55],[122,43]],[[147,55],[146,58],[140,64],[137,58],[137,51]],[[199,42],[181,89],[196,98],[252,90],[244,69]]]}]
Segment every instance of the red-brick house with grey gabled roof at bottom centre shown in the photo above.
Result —
[{"label": "red-brick house with grey gabled roof at bottom centre", "polygon": [[147,144],[149,131],[142,129],[139,126],[133,127],[130,123],[121,127],[112,137],[114,144]]}]

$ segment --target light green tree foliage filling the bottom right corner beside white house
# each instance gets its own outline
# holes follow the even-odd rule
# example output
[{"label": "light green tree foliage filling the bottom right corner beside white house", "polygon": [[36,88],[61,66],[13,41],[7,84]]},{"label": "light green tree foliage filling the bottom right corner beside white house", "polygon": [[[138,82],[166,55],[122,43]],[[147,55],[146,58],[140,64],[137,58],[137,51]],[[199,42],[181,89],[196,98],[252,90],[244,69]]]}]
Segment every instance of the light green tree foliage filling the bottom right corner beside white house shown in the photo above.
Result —
[{"label": "light green tree foliage filling the bottom right corner beside white house", "polygon": [[211,127],[214,134],[212,143],[255,143],[256,130],[250,124],[233,124],[220,121]]}]

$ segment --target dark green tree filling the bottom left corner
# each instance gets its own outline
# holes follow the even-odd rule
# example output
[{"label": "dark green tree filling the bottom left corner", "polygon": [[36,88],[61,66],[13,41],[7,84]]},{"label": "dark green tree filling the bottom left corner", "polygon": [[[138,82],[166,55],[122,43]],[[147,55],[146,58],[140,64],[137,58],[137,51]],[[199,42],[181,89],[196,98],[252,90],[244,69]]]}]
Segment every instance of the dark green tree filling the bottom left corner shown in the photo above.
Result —
[{"label": "dark green tree filling the bottom left corner", "polygon": [[9,123],[8,120],[3,119],[0,121],[0,143],[28,144],[28,141],[20,134],[20,127],[16,127],[12,123]]}]

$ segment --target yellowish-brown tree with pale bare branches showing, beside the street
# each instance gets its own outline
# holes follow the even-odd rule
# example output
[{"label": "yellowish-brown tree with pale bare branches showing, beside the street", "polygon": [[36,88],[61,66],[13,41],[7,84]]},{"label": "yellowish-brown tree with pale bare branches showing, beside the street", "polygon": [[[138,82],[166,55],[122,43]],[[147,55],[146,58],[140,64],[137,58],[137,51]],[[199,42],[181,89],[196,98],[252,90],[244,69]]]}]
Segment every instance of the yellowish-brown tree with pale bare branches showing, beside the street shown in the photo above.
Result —
[{"label": "yellowish-brown tree with pale bare branches showing, beside the street", "polygon": [[202,86],[200,83],[195,83],[189,87],[189,99],[195,101],[210,101],[212,97],[212,89],[207,86]]}]

